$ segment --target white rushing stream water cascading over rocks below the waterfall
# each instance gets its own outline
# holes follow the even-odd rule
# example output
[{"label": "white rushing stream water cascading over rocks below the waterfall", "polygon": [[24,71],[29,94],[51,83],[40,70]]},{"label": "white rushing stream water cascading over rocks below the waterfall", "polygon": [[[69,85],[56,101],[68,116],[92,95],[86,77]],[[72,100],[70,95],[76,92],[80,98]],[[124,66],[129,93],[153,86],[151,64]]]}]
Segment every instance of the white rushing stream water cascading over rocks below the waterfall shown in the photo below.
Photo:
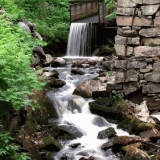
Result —
[{"label": "white rushing stream water cascading over rocks below the waterfall", "polygon": [[[53,70],[54,68],[49,68]],[[128,133],[117,129],[115,124],[111,124],[103,117],[94,115],[90,112],[88,102],[92,99],[84,99],[80,96],[72,95],[74,89],[87,79],[95,78],[98,74],[99,67],[82,69],[84,75],[71,74],[71,62],[68,62],[65,68],[56,68],[59,72],[59,79],[65,80],[66,85],[57,91],[49,92],[48,97],[53,101],[59,113],[59,119],[51,119],[58,125],[69,124],[76,127],[82,137],[67,142],[61,141],[63,148],[54,155],[54,160],[61,160],[66,155],[67,160],[79,160],[81,157],[89,158],[93,156],[96,160],[119,160],[111,150],[102,151],[101,145],[108,141],[108,138],[97,139],[99,131],[114,127],[117,135],[128,135]],[[77,148],[70,147],[72,144],[79,143]]]}]

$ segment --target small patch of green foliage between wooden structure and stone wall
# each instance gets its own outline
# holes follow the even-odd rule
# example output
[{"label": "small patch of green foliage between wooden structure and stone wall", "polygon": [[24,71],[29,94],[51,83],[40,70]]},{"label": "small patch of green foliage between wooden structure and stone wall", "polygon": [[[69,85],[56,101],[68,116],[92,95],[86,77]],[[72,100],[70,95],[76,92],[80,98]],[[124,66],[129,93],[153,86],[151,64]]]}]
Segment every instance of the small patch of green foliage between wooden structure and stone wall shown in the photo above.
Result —
[{"label": "small patch of green foliage between wooden structure and stone wall", "polygon": [[115,0],[104,0],[106,4],[107,10],[112,10],[110,14],[106,16],[107,20],[113,20],[116,16],[116,9],[115,9]]}]

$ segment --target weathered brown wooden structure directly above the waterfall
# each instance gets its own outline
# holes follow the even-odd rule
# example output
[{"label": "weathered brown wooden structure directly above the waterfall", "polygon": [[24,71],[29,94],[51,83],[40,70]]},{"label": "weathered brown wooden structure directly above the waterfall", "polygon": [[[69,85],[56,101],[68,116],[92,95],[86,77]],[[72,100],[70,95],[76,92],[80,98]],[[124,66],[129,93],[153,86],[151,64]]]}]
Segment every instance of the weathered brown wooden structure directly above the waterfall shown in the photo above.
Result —
[{"label": "weathered brown wooden structure directly above the waterfall", "polygon": [[69,2],[71,22],[106,22],[106,6],[104,0],[72,0]]}]

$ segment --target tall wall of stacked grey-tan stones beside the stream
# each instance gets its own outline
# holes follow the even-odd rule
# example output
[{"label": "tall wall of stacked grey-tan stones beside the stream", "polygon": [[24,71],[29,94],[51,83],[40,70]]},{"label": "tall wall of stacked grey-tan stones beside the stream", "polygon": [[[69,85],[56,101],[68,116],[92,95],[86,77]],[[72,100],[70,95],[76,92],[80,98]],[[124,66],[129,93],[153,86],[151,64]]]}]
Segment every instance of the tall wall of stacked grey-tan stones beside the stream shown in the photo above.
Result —
[{"label": "tall wall of stacked grey-tan stones beside the stream", "polygon": [[116,58],[103,63],[114,76],[108,88],[126,96],[141,90],[143,97],[158,98],[160,0],[117,0],[116,6]]}]

